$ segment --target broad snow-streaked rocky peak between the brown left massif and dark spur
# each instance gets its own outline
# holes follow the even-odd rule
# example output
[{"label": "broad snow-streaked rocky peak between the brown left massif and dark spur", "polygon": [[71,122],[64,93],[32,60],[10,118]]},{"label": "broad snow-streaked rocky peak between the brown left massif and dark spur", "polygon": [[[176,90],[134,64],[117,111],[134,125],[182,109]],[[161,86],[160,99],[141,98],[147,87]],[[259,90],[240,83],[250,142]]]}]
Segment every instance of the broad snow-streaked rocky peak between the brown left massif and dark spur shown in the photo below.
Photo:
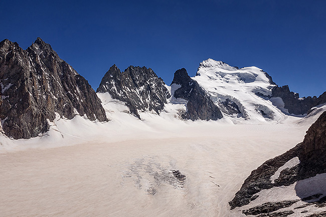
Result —
[{"label": "broad snow-streaked rocky peak between the brown left massif and dark spur", "polygon": [[137,110],[154,110],[159,114],[167,98],[170,98],[164,81],[146,67],[129,66],[121,73],[113,65],[102,78],[96,92],[108,92],[112,98],[125,102],[130,112],[138,118]]}]

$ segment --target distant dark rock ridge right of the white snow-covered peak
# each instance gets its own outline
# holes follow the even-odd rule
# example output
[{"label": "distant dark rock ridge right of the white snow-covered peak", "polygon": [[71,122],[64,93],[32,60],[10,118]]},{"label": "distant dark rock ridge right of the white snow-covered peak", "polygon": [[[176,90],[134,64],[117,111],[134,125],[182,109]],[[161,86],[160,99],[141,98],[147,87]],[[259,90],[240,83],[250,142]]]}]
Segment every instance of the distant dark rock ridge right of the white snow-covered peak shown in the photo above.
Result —
[{"label": "distant dark rock ridge right of the white snow-covered peak", "polygon": [[284,108],[287,109],[290,114],[295,115],[307,114],[313,106],[326,103],[326,92],[321,94],[318,98],[316,96],[299,98],[299,94],[290,92],[287,85],[273,87],[271,97],[280,97],[284,102]]}]

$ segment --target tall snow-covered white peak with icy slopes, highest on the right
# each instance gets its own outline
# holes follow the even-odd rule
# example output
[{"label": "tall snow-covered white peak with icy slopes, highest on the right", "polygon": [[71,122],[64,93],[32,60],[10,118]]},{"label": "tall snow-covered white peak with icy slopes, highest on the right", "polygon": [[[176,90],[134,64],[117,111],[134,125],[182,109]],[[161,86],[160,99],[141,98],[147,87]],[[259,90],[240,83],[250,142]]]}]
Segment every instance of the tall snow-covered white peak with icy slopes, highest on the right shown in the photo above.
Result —
[{"label": "tall snow-covered white peak with icy slopes, highest on the right", "polygon": [[[193,78],[210,94],[225,116],[251,121],[283,121],[286,118],[268,96],[275,86],[271,77],[257,67],[238,69],[221,61],[208,59],[200,63]],[[239,111],[230,111],[235,103]]]}]

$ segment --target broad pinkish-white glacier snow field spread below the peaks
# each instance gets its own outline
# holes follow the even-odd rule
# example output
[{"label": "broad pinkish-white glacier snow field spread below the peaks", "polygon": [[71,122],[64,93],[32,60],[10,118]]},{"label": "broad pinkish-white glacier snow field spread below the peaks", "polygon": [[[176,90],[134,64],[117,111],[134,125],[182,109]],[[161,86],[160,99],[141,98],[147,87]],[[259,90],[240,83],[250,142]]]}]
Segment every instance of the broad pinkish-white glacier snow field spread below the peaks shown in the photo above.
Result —
[{"label": "broad pinkish-white glacier snow field spread below the peaks", "polygon": [[99,97],[107,123],[58,116],[40,137],[1,136],[1,216],[243,216],[228,202],[245,178],[301,142],[318,116],[193,122],[170,103],[138,120]]}]

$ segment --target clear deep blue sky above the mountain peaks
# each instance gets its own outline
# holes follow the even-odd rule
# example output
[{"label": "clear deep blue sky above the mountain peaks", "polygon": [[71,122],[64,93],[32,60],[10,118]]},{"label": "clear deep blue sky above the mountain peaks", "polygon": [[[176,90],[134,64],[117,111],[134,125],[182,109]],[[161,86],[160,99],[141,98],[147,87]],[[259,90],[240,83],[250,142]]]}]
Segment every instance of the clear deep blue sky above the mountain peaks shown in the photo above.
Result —
[{"label": "clear deep blue sky above the mountain peaks", "polygon": [[0,41],[41,37],[96,90],[116,64],[170,85],[207,58],[257,66],[300,96],[326,91],[326,1],[0,1]]}]

